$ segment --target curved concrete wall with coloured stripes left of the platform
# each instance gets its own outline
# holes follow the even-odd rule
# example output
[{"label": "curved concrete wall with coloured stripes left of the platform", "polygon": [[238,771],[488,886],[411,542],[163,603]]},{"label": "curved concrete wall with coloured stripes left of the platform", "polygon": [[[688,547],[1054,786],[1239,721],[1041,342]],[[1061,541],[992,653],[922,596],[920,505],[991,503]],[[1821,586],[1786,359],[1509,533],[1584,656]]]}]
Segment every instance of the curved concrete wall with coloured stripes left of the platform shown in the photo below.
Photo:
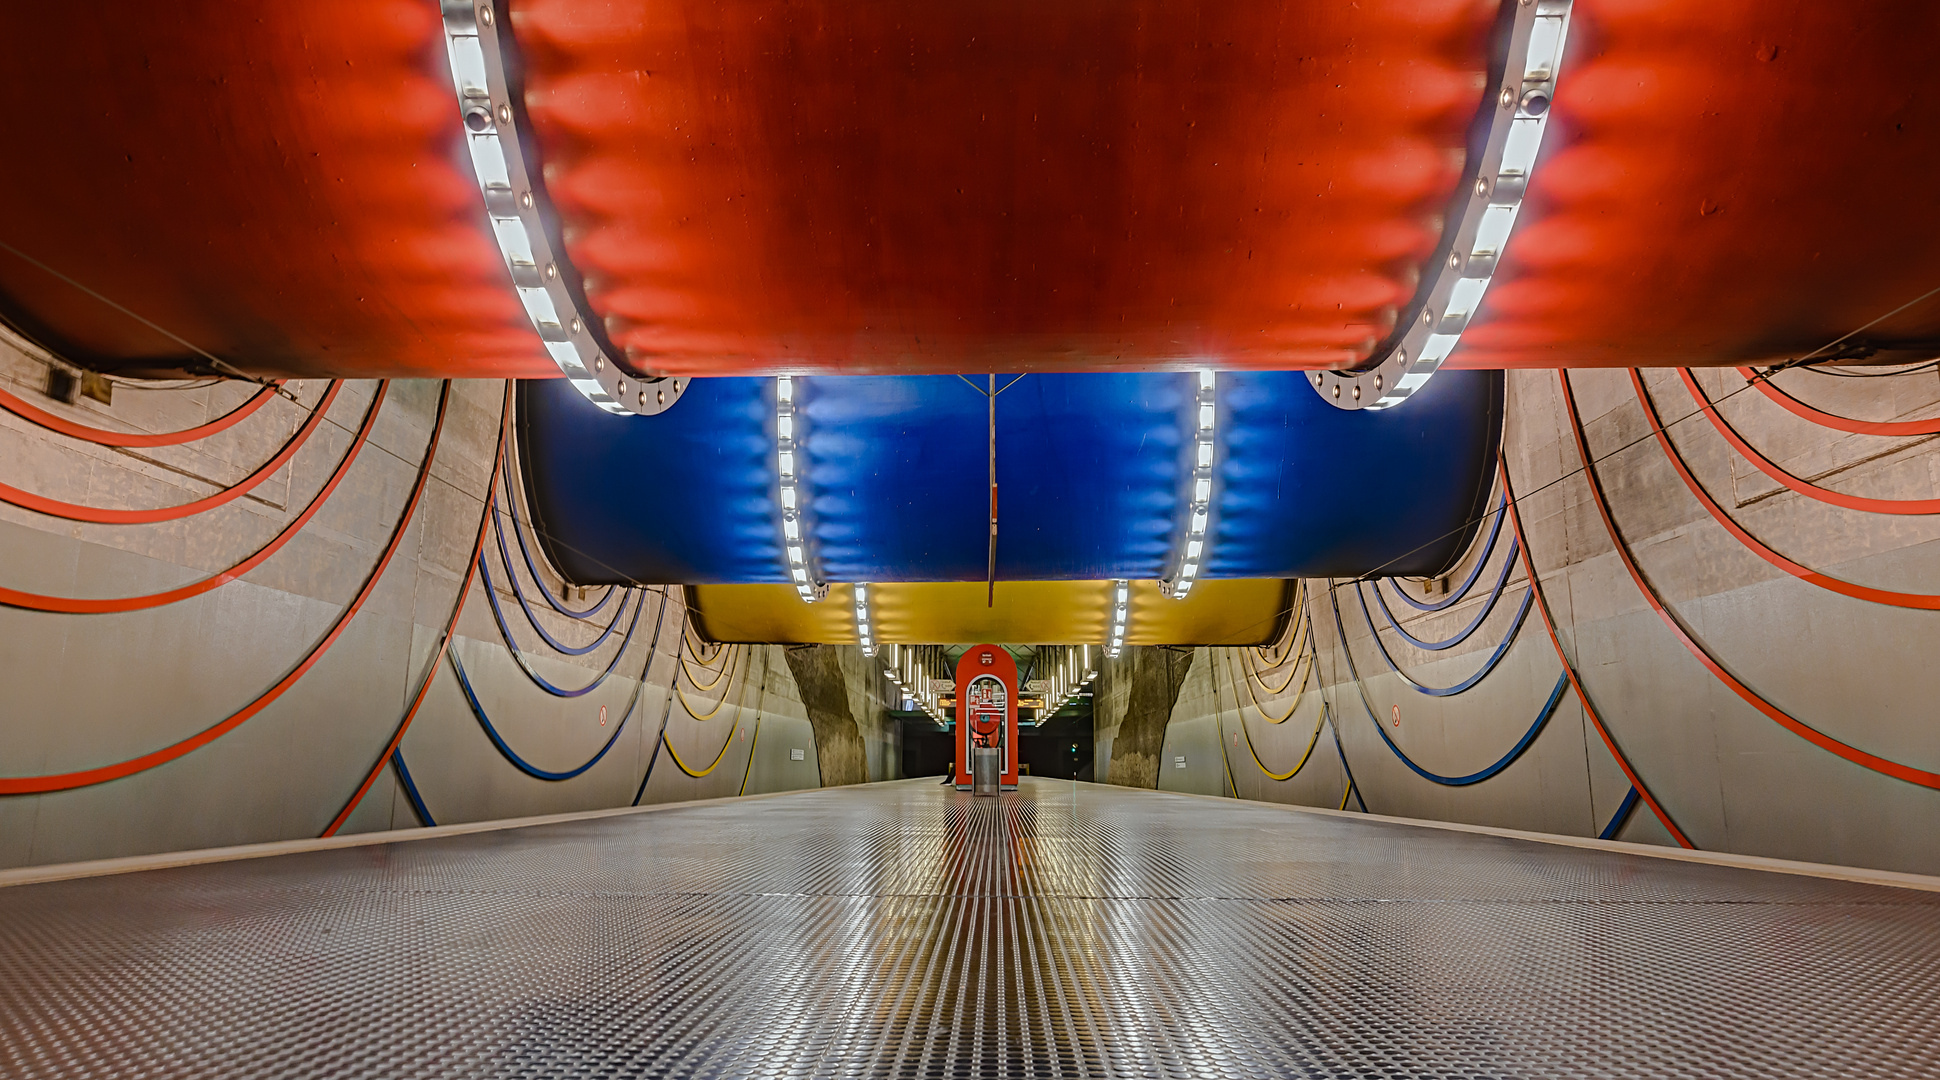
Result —
[{"label": "curved concrete wall with coloured stripes left of the platform", "polygon": [[[31,347],[0,345],[0,386],[99,427],[192,427],[250,392],[239,384],[116,386],[113,405],[60,405],[41,396],[45,382],[47,365]],[[328,413],[332,423],[254,492],[182,522],[93,525],[0,504],[0,588],[118,597],[231,566],[316,492],[351,442],[374,386],[347,384]],[[293,382],[289,390],[314,403],[322,382]],[[289,840],[326,828],[396,731],[450,617],[477,535],[502,390],[501,382],[454,384],[433,479],[404,543],[369,603],[314,669],[264,712],[186,756],[70,791],[0,795],[0,867]],[[390,539],[417,477],[436,397],[436,382],[394,382],[372,444],[343,485],[289,547],[242,580],[138,613],[0,607],[0,778],[147,754],[210,727],[281,679],[357,593]],[[89,506],[186,502],[270,458],[303,415],[299,405],[272,401],[204,442],[114,450],[0,413],[0,483]],[[487,551],[497,558],[495,545]],[[520,560],[516,547],[512,558]],[[543,564],[541,572],[547,588],[561,588]],[[495,574],[512,634],[541,677],[580,686],[607,665],[625,626],[584,657],[555,653],[537,642],[497,564]],[[724,663],[733,671],[706,690],[695,681],[712,683],[716,675],[689,657],[693,679],[681,677],[673,692],[683,640],[679,591],[665,613],[660,589],[648,589],[640,603],[640,624],[615,673],[586,696],[555,698],[514,665],[485,586],[473,578],[454,650],[487,715],[532,766],[565,772],[586,762],[615,731],[634,688],[644,686],[598,764],[572,779],[547,781],[522,774],[495,748],[450,665],[440,665],[402,745],[440,824],[627,805],[650,764],[642,801],[817,785],[813,731],[780,650],[722,650],[712,671]],[[545,607],[539,619],[568,644],[594,636],[588,624]],[[724,694],[728,700],[716,708]],[[667,745],[695,772],[718,764],[691,778],[667,752],[656,756],[663,723]],[[415,816],[384,768],[345,830],[411,824]]]}]

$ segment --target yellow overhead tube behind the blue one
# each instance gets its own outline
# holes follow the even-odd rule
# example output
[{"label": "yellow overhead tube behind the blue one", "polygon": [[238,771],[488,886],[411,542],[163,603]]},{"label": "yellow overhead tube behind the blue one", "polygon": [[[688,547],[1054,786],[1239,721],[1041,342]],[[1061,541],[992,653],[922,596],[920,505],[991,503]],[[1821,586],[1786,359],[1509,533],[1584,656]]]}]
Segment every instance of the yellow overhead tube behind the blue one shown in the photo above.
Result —
[{"label": "yellow overhead tube behind the blue one", "polygon": [[[887,582],[869,591],[877,642],[1102,644],[1110,632],[1112,582]],[[1133,646],[1261,646],[1286,624],[1290,584],[1277,578],[1199,582],[1168,599],[1158,582],[1131,584]],[[695,620],[716,642],[856,644],[856,599],[830,586],[801,603],[792,586],[691,586]]]}]

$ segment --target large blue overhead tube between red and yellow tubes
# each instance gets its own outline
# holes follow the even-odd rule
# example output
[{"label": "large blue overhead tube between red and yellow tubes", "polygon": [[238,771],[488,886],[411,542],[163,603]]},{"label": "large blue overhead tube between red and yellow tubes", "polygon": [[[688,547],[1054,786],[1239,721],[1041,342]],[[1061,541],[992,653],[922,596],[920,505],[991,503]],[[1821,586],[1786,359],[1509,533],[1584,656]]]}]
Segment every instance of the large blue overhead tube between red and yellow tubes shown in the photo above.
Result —
[{"label": "large blue overhead tube between red and yellow tubes", "polygon": [[[797,380],[807,527],[830,582],[984,580],[976,382]],[[997,576],[1162,576],[1183,533],[1191,396],[1189,372],[1030,374],[999,394]],[[1443,372],[1383,413],[1335,409],[1298,372],[1224,372],[1218,399],[1203,576],[1432,574],[1469,543],[1500,372]],[[696,380],[660,417],[524,382],[520,448],[539,537],[574,582],[786,580],[772,378]]]}]

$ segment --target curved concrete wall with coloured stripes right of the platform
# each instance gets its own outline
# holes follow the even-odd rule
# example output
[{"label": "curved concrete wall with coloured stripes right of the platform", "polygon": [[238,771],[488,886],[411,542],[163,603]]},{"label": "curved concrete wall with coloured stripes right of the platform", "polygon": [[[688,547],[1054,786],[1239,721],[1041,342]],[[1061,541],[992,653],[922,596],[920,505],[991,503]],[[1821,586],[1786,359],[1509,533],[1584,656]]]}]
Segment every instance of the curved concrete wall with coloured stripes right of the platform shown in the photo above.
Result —
[{"label": "curved concrete wall with coloured stripes right of the platform", "polygon": [[[1829,576],[1940,591],[1940,520],[1862,514],[1794,494],[1736,456],[1701,415],[1690,417],[1692,399],[1674,372],[1645,374],[1696,475],[1754,535]],[[1744,386],[1729,370],[1698,378],[1713,397]],[[1872,754],[1940,770],[1940,613],[1835,595],[1754,556],[1670,469],[1626,372],[1577,372],[1573,380],[1614,518],[1647,578],[1698,640],[1804,723]],[[1934,415],[1940,403],[1932,372],[1880,380],[1789,374],[1781,384],[1829,411],[1864,419]],[[1507,407],[1505,460],[1564,648],[1610,735],[1690,840],[1748,855],[1940,873],[1940,791],[1860,768],[1785,731],[1701,667],[1645,605],[1577,471],[1556,374],[1511,372]],[[1756,392],[1730,396],[1723,411],[1794,475],[1878,498],[1940,494],[1934,436],[1841,434]],[[1484,568],[1484,586],[1505,547],[1507,537]],[[1511,574],[1498,609],[1463,646],[1422,651],[1385,624],[1381,636],[1418,681],[1459,683],[1507,632],[1521,578],[1521,570]],[[1562,671],[1535,613],[1488,679],[1459,696],[1434,698],[1387,669],[1344,582],[1342,642],[1327,588],[1325,580],[1308,582],[1317,669],[1304,698],[1296,700],[1298,681],[1269,692],[1284,669],[1263,673],[1263,683],[1247,677],[1244,663],[1257,657],[1245,650],[1201,650],[1162,750],[1164,762],[1183,754],[1189,768],[1162,768],[1164,778],[1176,776],[1178,787],[1201,793],[1232,785],[1247,799],[1339,807],[1346,781],[1333,721],[1321,727],[1298,776],[1269,778],[1269,770],[1292,770],[1325,714],[1339,721],[1346,762],[1374,812],[1575,836],[1604,828],[1630,783],[1573,694],[1564,696],[1521,758],[1490,779],[1449,787],[1422,779],[1387,748],[1346,667],[1344,650],[1352,650],[1374,715],[1420,766],[1441,776],[1472,774],[1531,729]],[[1406,588],[1422,595],[1418,586]],[[1395,615],[1416,638],[1439,640],[1472,619],[1482,595],[1486,588],[1438,615],[1395,605]],[[1381,620],[1379,609],[1374,619]],[[1280,723],[1267,723],[1278,715]],[[1209,745],[1222,746],[1218,770],[1197,768]],[[1618,836],[1672,842],[1641,805]]]}]

